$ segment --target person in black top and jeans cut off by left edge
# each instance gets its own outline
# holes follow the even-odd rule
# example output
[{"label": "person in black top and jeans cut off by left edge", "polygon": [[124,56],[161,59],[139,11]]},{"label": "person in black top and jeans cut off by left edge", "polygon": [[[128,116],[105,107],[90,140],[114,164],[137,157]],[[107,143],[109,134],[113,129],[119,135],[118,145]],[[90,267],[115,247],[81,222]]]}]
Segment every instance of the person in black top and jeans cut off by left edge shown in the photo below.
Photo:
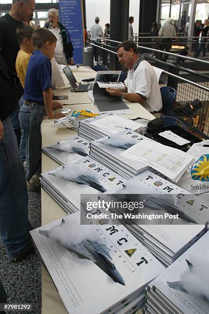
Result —
[{"label": "person in black top and jeans cut off by left edge", "polygon": [[18,105],[23,87],[0,55],[0,234],[11,262],[34,251],[29,230],[28,193],[24,166],[9,115]]}]

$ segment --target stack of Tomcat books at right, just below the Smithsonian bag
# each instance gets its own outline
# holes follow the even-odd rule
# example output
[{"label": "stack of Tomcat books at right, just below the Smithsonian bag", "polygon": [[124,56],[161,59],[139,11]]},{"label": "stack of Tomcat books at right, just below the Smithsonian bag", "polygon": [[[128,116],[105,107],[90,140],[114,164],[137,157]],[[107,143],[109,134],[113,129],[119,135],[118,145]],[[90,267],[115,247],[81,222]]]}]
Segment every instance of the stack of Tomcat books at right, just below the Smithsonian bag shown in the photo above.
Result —
[{"label": "stack of Tomcat books at right, just below the Smithsonian bag", "polygon": [[[122,189],[114,188],[105,194],[108,194],[107,198],[117,201],[121,199],[139,201],[140,193],[143,194],[144,207],[137,212],[147,215],[162,214],[163,218],[165,213],[171,215],[178,213],[178,220],[155,220],[144,216],[138,221],[128,217],[121,223],[126,224],[155,257],[169,266],[206,232],[208,202],[150,171],[144,171],[124,182]],[[122,212],[118,208],[111,210],[118,214]]]}]

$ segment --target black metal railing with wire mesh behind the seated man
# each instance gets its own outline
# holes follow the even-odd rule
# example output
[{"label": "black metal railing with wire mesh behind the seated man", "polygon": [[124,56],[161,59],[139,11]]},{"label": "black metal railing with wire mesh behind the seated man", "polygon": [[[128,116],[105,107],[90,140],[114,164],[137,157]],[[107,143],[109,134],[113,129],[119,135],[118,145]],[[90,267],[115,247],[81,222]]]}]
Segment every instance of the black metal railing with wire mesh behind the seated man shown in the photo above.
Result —
[{"label": "black metal railing with wire mesh behind the seated man", "polygon": [[[107,40],[107,42],[97,42],[92,44],[95,50],[95,60],[98,63],[105,64],[109,70],[124,69],[118,62],[116,46],[117,41]],[[176,90],[176,101],[172,110],[172,115],[183,120],[191,132],[201,139],[209,139],[209,76],[186,69],[181,65],[174,65],[163,62],[150,56],[150,48],[138,46],[139,52],[144,55],[145,60],[155,67],[163,70],[159,85],[170,86]],[[145,51],[144,51],[145,50]],[[163,53],[156,50],[157,53]],[[165,53],[165,52],[164,52]],[[170,55],[179,56],[166,52]],[[204,60],[194,60],[191,57],[184,57],[184,60],[190,62],[200,62],[207,64]],[[194,102],[195,100],[198,100]],[[195,107],[195,104],[198,108]]]}]

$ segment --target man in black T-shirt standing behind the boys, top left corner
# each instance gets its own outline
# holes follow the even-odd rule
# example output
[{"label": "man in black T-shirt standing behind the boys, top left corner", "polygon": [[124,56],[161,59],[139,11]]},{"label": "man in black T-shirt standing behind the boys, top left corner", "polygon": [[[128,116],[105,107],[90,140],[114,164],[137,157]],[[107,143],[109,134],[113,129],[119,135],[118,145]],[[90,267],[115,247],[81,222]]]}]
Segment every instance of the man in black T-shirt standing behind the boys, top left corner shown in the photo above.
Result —
[{"label": "man in black T-shirt standing behind the boys, top left corner", "polygon": [[[15,72],[15,61],[19,51],[16,29],[33,17],[34,9],[35,0],[13,0],[9,13],[0,18],[0,54],[12,72]],[[19,108],[16,106],[10,116],[17,140],[20,138],[18,112]]]}]

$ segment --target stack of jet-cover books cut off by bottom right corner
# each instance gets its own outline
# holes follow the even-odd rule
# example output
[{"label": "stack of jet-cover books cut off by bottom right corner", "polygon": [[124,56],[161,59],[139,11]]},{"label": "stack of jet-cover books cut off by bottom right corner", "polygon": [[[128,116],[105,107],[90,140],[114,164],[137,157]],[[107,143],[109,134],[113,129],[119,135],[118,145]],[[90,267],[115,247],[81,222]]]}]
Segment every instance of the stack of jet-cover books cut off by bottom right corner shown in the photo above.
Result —
[{"label": "stack of jet-cover books cut off by bottom right corner", "polygon": [[144,313],[209,313],[208,231],[147,289]]}]

